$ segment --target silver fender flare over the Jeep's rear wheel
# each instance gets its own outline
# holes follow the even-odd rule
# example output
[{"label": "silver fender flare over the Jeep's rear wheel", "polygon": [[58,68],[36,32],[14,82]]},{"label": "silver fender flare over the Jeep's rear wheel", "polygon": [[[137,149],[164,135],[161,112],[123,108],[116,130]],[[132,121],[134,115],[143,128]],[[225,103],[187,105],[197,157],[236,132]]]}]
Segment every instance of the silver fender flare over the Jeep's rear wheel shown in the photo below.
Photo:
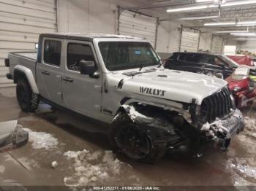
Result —
[{"label": "silver fender flare over the Jeep's rear wheel", "polygon": [[25,66],[16,65],[13,70],[13,79],[15,79],[15,71],[20,71],[21,73],[23,73],[29,82],[32,92],[35,94],[39,94],[37,82],[34,79],[34,74],[32,73],[31,69],[28,69]]}]

